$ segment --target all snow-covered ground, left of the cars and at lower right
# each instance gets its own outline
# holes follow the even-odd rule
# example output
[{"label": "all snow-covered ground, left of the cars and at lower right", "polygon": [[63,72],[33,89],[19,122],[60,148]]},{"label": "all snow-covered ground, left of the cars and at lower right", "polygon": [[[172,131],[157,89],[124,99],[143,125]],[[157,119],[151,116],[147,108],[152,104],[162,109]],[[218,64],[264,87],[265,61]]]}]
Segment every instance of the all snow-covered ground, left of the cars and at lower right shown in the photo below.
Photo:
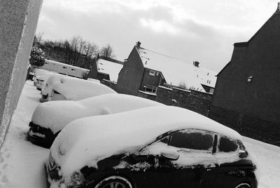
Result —
[{"label": "all snow-covered ground, left of the cars and at lower right", "polygon": [[[27,81],[18,107],[13,114],[8,135],[0,150],[0,188],[44,188],[44,161],[49,149],[26,140],[28,123],[39,104],[40,91]],[[280,184],[280,147],[244,137],[244,145],[258,162],[260,188],[275,188]]]}]

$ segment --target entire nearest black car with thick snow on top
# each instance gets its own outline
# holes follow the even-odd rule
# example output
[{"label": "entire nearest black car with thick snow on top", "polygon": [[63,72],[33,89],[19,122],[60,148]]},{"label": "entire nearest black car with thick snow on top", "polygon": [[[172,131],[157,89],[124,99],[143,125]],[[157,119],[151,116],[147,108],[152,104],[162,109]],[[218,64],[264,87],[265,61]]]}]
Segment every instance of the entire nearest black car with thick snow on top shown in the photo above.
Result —
[{"label": "entire nearest black car with thick snow on top", "polygon": [[241,135],[179,107],[147,107],[69,123],[50,148],[57,187],[257,187]]}]

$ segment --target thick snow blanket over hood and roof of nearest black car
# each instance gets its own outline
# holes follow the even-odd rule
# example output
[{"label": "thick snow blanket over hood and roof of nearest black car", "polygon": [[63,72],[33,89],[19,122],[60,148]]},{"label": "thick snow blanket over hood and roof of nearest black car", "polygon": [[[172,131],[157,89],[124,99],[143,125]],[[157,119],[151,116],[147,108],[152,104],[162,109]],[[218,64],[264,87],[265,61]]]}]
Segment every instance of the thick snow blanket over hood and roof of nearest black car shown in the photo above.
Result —
[{"label": "thick snow blanket over hood and roof of nearest black car", "polygon": [[69,123],[50,148],[69,177],[83,166],[97,167],[97,161],[113,154],[137,152],[169,130],[197,128],[240,139],[241,135],[205,116],[179,107],[147,107],[130,112],[91,116]]}]

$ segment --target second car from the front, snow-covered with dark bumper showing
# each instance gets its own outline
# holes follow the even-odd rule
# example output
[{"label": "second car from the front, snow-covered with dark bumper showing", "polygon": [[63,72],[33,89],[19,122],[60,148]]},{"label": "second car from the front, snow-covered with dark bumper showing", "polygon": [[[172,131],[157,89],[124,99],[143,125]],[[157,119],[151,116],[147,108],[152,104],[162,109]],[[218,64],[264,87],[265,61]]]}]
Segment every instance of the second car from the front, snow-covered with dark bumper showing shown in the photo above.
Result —
[{"label": "second car from the front, snow-covered with dark bumper showing", "polygon": [[79,101],[50,101],[36,107],[29,123],[28,140],[50,147],[68,123],[86,116],[115,114],[143,107],[162,105],[137,96],[110,93]]}]

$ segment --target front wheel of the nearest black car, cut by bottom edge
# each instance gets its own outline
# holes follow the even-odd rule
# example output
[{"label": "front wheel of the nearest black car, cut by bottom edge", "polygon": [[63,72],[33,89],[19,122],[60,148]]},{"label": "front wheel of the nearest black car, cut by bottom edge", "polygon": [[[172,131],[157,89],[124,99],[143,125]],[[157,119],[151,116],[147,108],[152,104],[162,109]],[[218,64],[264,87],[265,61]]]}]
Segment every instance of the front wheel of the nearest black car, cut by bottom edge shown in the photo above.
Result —
[{"label": "front wheel of the nearest black car, cut by bottom edge", "polygon": [[120,177],[118,175],[112,175],[110,177],[104,178],[94,188],[133,188],[132,184],[125,177]]}]

